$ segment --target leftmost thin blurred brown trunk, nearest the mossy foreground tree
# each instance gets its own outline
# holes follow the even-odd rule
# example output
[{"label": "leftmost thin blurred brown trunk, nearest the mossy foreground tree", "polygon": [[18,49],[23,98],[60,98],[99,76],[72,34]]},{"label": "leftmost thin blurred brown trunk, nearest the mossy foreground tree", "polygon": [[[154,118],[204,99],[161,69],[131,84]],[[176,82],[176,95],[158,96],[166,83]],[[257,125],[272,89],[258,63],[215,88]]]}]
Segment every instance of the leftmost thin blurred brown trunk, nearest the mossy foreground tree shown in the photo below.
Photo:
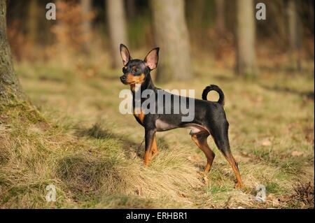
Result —
[{"label": "leftmost thin blurred brown trunk, nearest the mossy foreground tree", "polygon": [[37,0],[29,1],[29,15],[28,15],[28,22],[27,22],[27,33],[29,41],[32,44],[36,43],[37,41]]}]

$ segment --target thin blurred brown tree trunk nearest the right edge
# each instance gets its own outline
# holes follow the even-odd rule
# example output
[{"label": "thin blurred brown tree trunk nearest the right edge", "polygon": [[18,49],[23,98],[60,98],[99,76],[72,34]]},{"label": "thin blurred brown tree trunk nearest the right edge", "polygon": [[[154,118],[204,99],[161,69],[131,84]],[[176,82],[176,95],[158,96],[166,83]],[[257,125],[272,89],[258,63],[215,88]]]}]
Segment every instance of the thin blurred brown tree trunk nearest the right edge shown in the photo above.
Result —
[{"label": "thin blurred brown tree trunk nearest the right edge", "polygon": [[297,2],[295,0],[288,1],[288,31],[290,36],[290,55],[293,64],[298,70],[301,69],[300,50],[301,50],[301,37],[300,37],[300,19],[297,13]]}]

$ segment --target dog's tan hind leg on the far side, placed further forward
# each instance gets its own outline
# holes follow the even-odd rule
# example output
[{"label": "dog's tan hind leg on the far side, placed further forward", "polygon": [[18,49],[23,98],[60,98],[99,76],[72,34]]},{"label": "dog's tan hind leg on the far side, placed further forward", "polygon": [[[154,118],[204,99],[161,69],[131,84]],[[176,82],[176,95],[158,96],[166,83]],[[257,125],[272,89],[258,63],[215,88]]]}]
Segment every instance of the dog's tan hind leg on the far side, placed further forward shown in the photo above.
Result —
[{"label": "dog's tan hind leg on the far side, placed further forward", "polygon": [[214,157],[216,156],[216,154],[214,154],[214,151],[209,148],[209,145],[207,143],[208,136],[209,134],[205,131],[200,131],[196,134],[191,135],[193,141],[207,157],[207,166],[206,168],[204,168],[204,172],[206,173],[210,171],[212,163],[214,162]]}]

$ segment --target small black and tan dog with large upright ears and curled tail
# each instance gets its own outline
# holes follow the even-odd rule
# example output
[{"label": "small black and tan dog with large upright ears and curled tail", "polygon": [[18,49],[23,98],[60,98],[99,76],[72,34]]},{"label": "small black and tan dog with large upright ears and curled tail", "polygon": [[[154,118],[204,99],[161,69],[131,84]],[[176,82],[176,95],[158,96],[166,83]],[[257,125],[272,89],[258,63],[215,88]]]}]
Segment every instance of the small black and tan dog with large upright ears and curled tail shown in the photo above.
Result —
[{"label": "small black and tan dog with large upright ears and curled tail", "polygon": [[[134,111],[136,109],[135,94],[137,91],[141,91],[140,93],[142,93],[144,90],[149,89],[152,92],[157,93],[158,90],[161,90],[153,85],[150,75],[150,72],[158,65],[159,50],[159,48],[154,48],[148,52],[148,55],[146,55],[144,60],[132,59],[127,47],[123,44],[120,44],[120,55],[123,59],[124,65],[124,74],[120,77],[120,80],[124,85],[130,85],[133,96]],[[140,87],[137,88],[137,86]],[[212,90],[218,92],[220,96],[218,101],[207,101],[207,94]],[[163,92],[163,94],[169,94],[168,96],[171,97],[172,102],[176,101],[176,97],[184,99],[184,101],[187,99],[188,101],[188,98],[170,94],[169,92]],[[156,97],[157,94],[153,95],[155,97],[153,100],[156,101],[155,110],[157,110],[159,106],[165,106],[165,104],[158,102],[158,98]],[[140,103],[144,103],[144,101],[150,96],[151,95],[149,94],[146,98],[141,98]],[[235,187],[241,188],[242,182],[241,175],[239,174],[239,168],[230,150],[228,138],[229,123],[225,117],[225,111],[223,109],[224,94],[222,90],[216,85],[210,85],[202,92],[202,100],[193,100],[195,100],[195,116],[190,122],[182,121],[183,113],[174,113],[175,107],[173,103],[171,114],[152,114],[145,113],[142,110],[137,113],[134,112],[134,117],[136,118],[137,122],[139,122],[139,124],[141,124],[145,130],[144,165],[148,165],[149,161],[151,161],[151,157],[153,157],[153,155],[158,152],[155,137],[155,133],[157,131],[167,131],[176,128],[189,128],[191,129],[191,138],[207,157],[207,166],[204,171],[206,173],[209,172],[215,157],[214,152],[209,148],[207,143],[207,138],[211,135],[212,138],[214,138],[214,142],[216,143],[218,149],[223,153],[225,159],[227,159],[232,166],[232,169],[237,178],[237,185]]]}]

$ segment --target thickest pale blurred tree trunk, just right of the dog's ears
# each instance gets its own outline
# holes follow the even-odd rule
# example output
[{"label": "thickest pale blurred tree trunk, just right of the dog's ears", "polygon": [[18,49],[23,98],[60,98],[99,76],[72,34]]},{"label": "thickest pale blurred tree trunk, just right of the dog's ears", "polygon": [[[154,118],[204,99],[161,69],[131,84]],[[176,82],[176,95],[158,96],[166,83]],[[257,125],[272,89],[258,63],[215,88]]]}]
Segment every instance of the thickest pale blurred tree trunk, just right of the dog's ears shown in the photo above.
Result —
[{"label": "thickest pale blurred tree trunk, just right of the dog's ears", "polygon": [[155,43],[160,46],[157,80],[191,78],[190,44],[183,0],[152,0]]}]

